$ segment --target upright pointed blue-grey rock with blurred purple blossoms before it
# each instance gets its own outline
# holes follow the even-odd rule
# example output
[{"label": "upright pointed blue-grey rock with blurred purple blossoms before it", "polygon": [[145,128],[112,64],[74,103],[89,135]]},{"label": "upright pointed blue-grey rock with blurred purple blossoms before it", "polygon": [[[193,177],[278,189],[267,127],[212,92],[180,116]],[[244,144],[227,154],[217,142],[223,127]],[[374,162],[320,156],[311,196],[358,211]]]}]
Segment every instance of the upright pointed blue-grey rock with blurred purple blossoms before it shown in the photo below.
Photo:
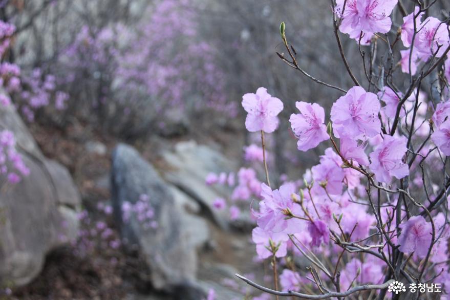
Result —
[{"label": "upright pointed blue-grey rock with blurred purple blossoms before it", "polygon": [[[186,216],[154,167],[131,146],[119,144],[114,149],[111,182],[115,221],[122,238],[128,245],[137,246],[143,254],[151,272],[152,285],[168,292],[188,289],[198,293],[195,288],[196,246],[204,238],[199,240],[192,229],[203,230],[199,227],[206,227],[206,224]],[[155,211],[156,229],[146,228],[135,215],[127,222],[122,218],[122,204],[125,201],[135,203],[142,194],[148,195]],[[204,237],[205,233],[202,235]]]}]

